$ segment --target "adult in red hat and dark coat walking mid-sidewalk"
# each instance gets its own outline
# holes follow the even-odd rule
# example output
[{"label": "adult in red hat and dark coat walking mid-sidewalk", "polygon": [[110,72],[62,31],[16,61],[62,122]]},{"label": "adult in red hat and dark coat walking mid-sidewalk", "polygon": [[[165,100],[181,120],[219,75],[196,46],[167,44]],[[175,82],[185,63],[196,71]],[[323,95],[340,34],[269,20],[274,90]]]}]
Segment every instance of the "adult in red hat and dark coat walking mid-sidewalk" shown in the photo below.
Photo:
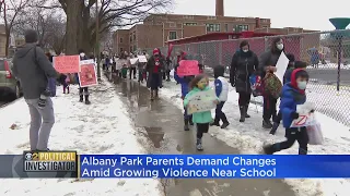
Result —
[{"label": "adult in red hat and dark coat walking mid-sidewalk", "polygon": [[151,88],[151,100],[159,98],[159,88],[162,85],[162,70],[164,68],[164,59],[161,51],[155,48],[153,56],[148,60],[145,70],[149,73],[147,78],[147,87]]}]

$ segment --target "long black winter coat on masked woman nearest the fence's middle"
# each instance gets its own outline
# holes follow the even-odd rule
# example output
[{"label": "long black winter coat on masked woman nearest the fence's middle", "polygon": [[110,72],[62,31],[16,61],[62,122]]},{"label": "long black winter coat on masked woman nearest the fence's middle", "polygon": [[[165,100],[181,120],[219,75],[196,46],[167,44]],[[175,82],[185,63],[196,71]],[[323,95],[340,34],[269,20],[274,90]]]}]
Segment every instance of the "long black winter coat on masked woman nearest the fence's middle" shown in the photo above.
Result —
[{"label": "long black winter coat on masked woman nearest the fence's middle", "polygon": [[253,52],[236,52],[231,62],[230,83],[235,84],[237,93],[250,93],[249,77],[257,72],[258,57]]}]

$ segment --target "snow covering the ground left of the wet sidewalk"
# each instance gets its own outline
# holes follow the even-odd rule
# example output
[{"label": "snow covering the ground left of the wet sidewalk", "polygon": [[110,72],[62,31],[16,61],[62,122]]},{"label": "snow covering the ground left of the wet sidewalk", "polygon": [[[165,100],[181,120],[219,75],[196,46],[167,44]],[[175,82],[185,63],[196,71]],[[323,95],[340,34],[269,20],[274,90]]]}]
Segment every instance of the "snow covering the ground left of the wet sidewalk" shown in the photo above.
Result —
[{"label": "snow covering the ground left of the wet sidewalk", "polygon": [[[113,86],[104,82],[91,88],[92,105],[79,102],[78,86],[63,95],[57,88],[55,117],[49,148],[78,150],[79,154],[147,154],[127,111]],[[20,155],[30,149],[30,114],[24,99],[0,109],[0,154]],[[11,130],[12,124],[18,128]],[[152,179],[114,180],[0,180],[0,195],[16,196],[86,196],[86,195],[161,195],[159,181]]]}]

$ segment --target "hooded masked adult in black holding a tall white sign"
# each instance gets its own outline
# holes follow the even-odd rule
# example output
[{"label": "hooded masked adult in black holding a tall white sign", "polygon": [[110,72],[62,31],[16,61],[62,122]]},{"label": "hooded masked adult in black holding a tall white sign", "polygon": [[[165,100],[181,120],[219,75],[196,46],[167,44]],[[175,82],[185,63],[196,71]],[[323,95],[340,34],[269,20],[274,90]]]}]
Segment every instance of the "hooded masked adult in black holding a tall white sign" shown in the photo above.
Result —
[{"label": "hooded masked adult in black holding a tall white sign", "polygon": [[[283,51],[283,40],[277,37],[272,40],[270,50],[264,52],[260,56],[259,70],[261,71],[261,78],[265,78],[267,74],[273,74],[277,71],[276,64],[278,59]],[[270,93],[264,93],[264,111],[262,111],[262,127],[271,128],[271,118],[277,118],[277,98],[275,98]]]}]

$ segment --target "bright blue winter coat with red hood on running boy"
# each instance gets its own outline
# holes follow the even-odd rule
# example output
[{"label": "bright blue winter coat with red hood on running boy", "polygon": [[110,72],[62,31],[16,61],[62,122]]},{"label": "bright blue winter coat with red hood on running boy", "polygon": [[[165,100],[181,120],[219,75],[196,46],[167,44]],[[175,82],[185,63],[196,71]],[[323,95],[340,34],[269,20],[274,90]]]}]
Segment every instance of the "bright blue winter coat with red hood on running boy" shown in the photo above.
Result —
[{"label": "bright blue winter coat with red hood on running boy", "polygon": [[293,122],[292,113],[296,112],[296,106],[306,101],[305,90],[300,90],[296,85],[295,74],[293,71],[291,82],[287,83],[282,88],[280,111],[282,112],[283,126],[289,128]]}]

